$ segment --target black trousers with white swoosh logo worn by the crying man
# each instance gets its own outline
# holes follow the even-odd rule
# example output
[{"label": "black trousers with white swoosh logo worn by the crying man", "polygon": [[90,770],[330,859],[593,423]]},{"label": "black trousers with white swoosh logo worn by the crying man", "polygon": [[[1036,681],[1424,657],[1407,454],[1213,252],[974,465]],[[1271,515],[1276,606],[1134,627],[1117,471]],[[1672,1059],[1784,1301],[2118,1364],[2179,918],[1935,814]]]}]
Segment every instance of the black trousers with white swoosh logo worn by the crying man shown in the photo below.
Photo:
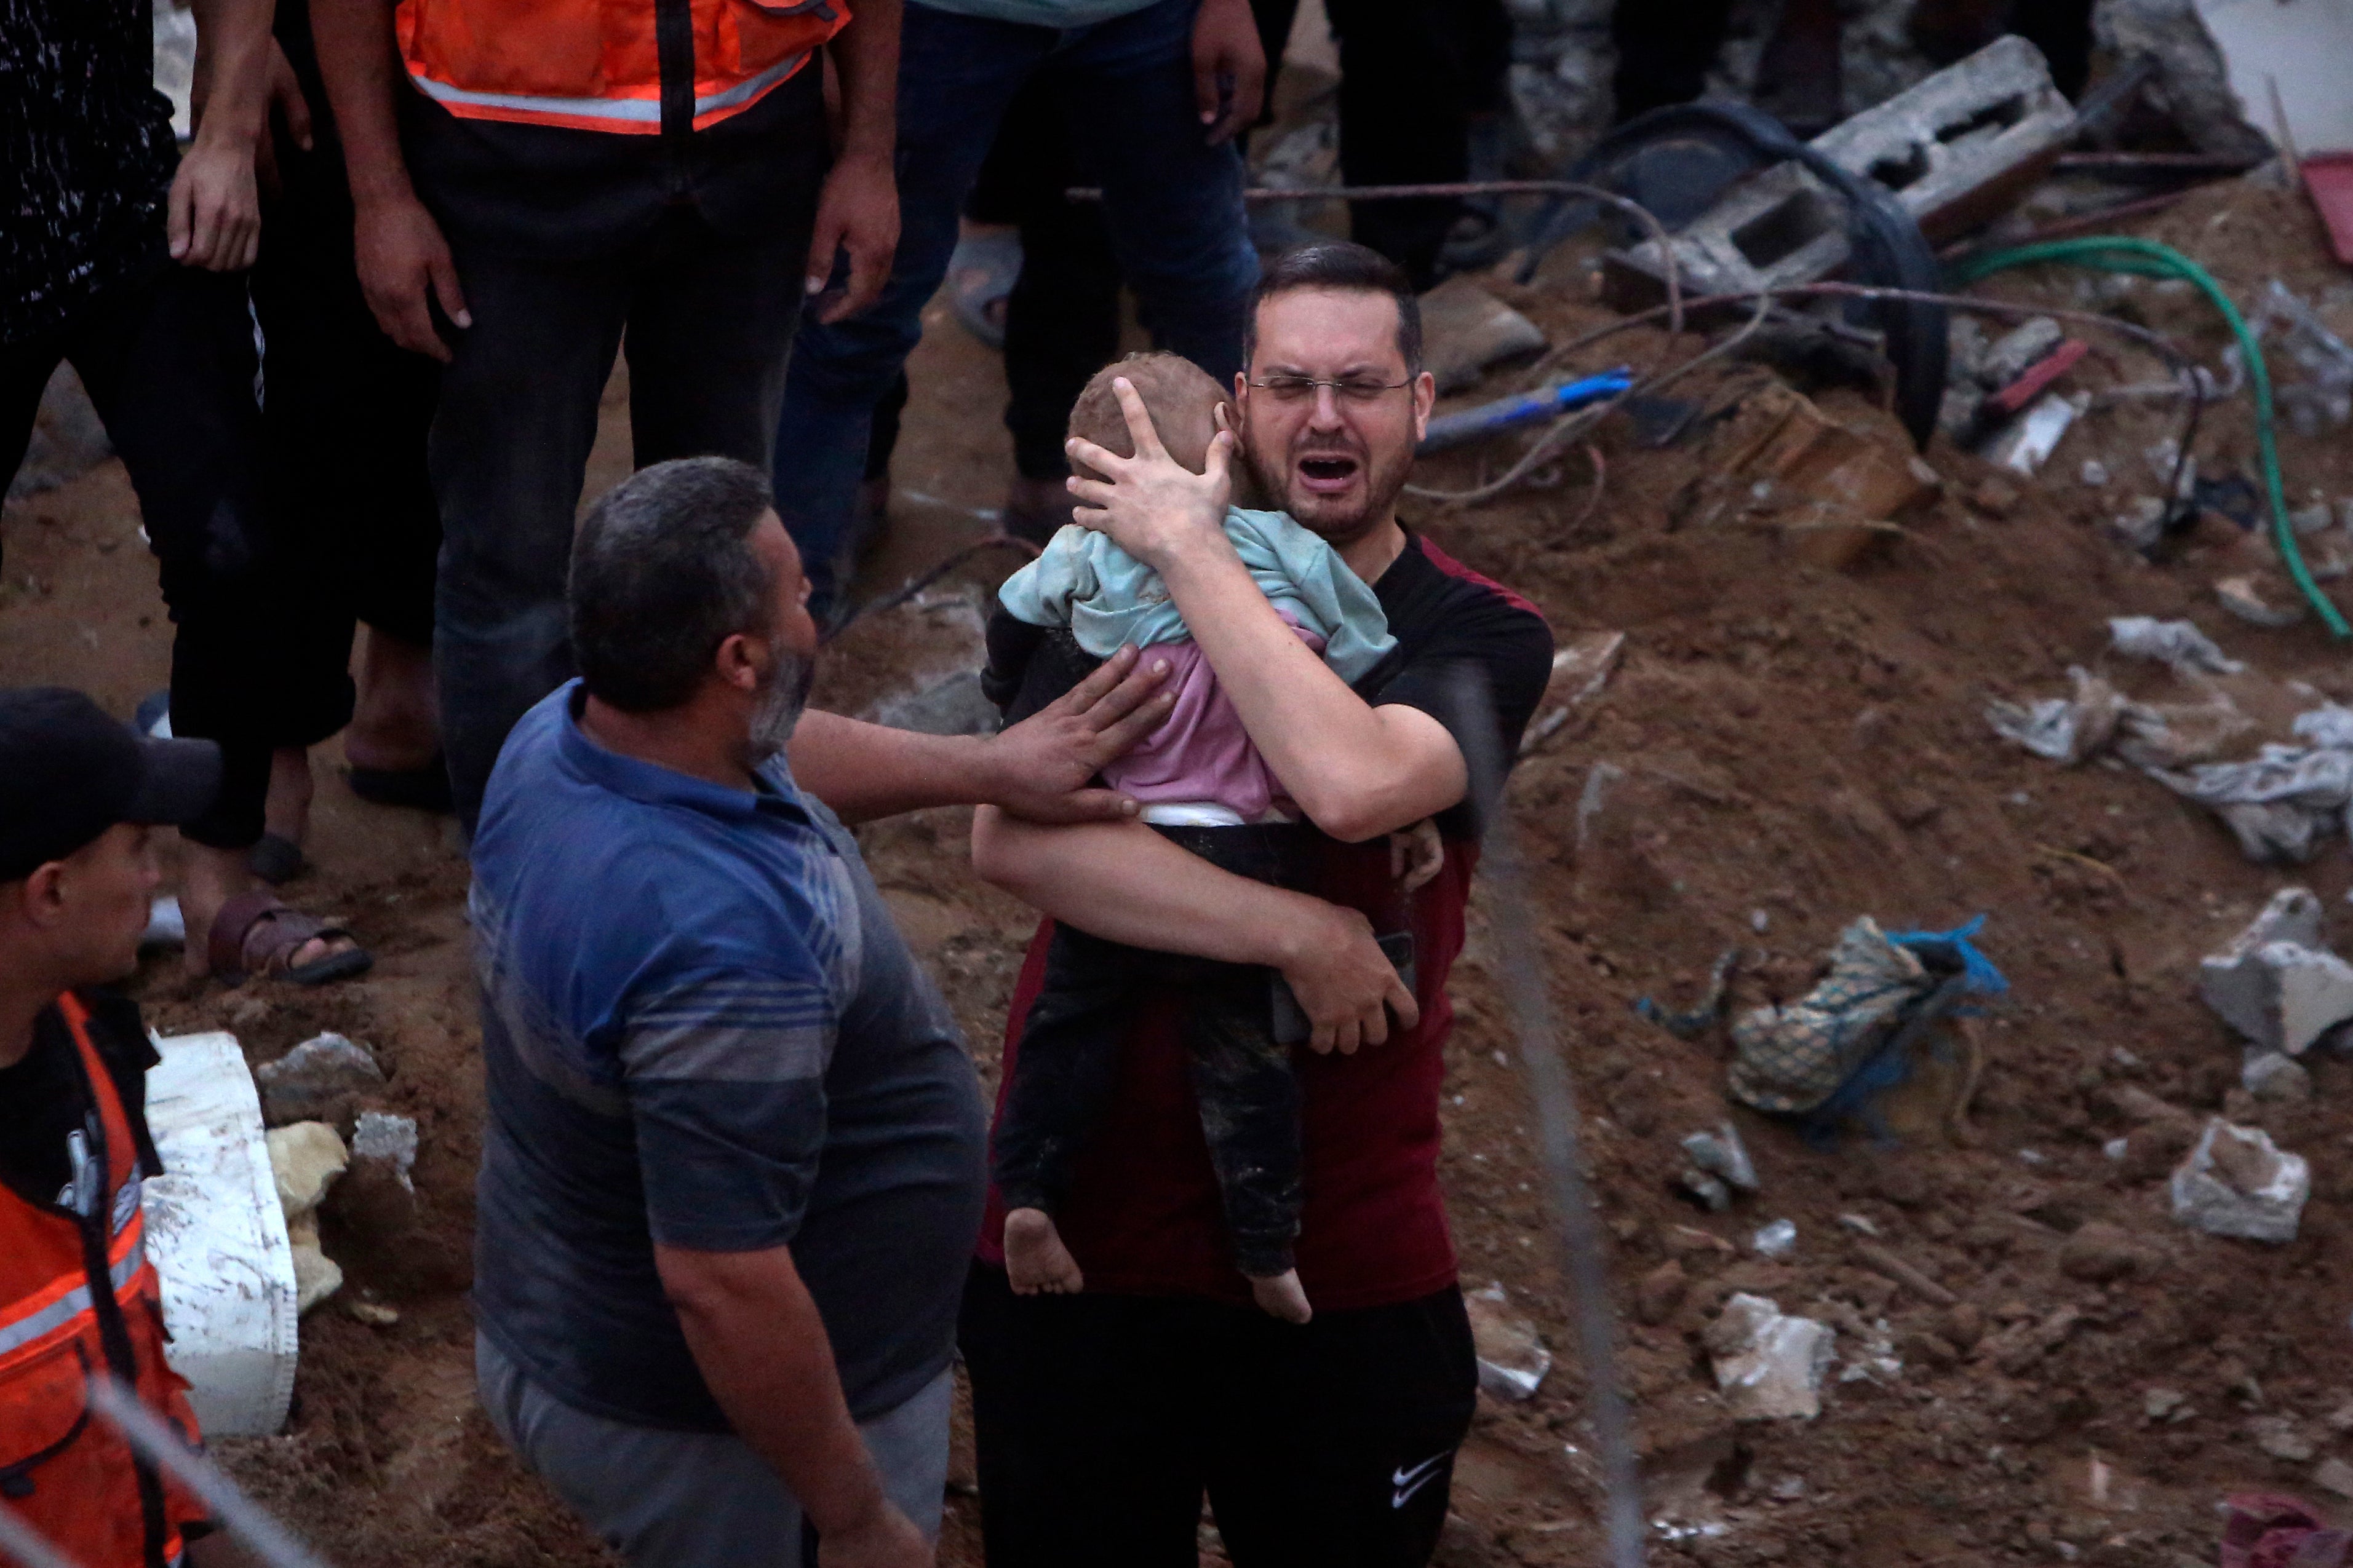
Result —
[{"label": "black trousers with white swoosh logo worn by the crying man", "polygon": [[1202,1493],[1235,1568],[1421,1568],[1478,1392],[1452,1286],[1294,1326],[974,1265],[958,1342],[1002,1568],[1195,1568]]}]

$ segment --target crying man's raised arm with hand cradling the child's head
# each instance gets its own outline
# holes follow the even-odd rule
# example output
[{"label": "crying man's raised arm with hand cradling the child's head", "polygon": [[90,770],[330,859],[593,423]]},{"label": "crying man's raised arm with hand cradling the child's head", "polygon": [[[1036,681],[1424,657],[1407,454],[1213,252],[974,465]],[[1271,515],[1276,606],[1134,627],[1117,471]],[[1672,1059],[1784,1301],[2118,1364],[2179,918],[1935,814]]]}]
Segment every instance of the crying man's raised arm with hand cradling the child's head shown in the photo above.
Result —
[{"label": "crying man's raised arm with hand cradling the child's head", "polygon": [[1078,463],[1111,475],[1071,482],[1096,508],[1078,520],[1160,574],[1252,745],[1299,809],[1353,844],[1457,804],[1471,773],[1445,724],[1419,708],[1365,703],[1249,578],[1224,529],[1233,437],[1219,433],[1209,470],[1195,475],[1169,458],[1136,390],[1125,378],[1113,390],[1136,456],[1071,444]]}]

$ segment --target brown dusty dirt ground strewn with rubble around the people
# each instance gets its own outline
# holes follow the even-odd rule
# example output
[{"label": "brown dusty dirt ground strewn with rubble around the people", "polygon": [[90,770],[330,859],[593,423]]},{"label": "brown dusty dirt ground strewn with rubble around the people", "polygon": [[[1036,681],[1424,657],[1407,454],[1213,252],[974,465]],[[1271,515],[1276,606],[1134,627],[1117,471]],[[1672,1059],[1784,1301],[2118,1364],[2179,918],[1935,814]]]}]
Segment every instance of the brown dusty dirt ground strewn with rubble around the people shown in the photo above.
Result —
[{"label": "brown dusty dirt ground strewn with rubble around the people", "polygon": [[[2308,299],[2341,280],[2318,259],[2304,209],[2275,193],[2195,197],[2139,230],[2205,259],[2240,301],[2273,270]],[[2080,303],[2082,287],[2052,275],[1995,292]],[[1520,299],[1555,341],[1602,320],[1577,289]],[[2118,299],[2217,360],[2224,339],[2195,301],[2155,284]],[[1579,367],[1692,346],[1628,334]],[[2082,386],[2151,374],[2144,355],[2118,353],[2094,360]],[[1765,378],[1729,367],[1680,390],[1725,402]],[[871,583],[986,531],[976,508],[995,505],[1005,475],[998,397],[991,355],[946,324],[927,336],[896,473],[899,531]],[[1821,402],[1871,418],[1854,393],[1821,390]],[[2353,1373],[2353,1067],[2315,1060],[2313,1103],[2254,1105],[2238,1088],[2238,1044],[2191,994],[2198,954],[2273,889],[2304,882],[2337,900],[2353,882],[2346,846],[2329,842],[2294,872],[2249,865],[2205,813],[2139,776],[2061,771],[1981,717],[1988,696],[2054,693],[2068,663],[2099,668],[2111,614],[2191,616],[2259,675],[2353,698],[2353,670],[2315,625],[2254,630],[2212,607],[2214,576],[2247,555],[2226,524],[2155,567],[2106,538],[2106,517],[2155,491],[2139,454],[2165,418],[2092,414],[2035,484],[1988,484],[1981,463],[1939,444],[1941,498],[1842,571],[1807,564],[1774,527],[1694,522],[1687,487],[1722,456],[1715,433],[1668,451],[1607,433],[1607,482],[1591,508],[1579,456],[1555,489],[1412,512],[1534,597],[1562,637],[1626,632],[1617,679],[1522,764],[1513,806],[1614,1244],[1654,1561],[2174,1568],[2214,1561],[2214,1502],[2228,1490],[2315,1495],[2313,1469],[2353,1458],[2329,1420]],[[621,470],[619,423],[609,409],[591,489]],[[2249,430],[2242,404],[2209,414],[2207,470],[2249,470]],[[2087,456],[2108,465],[2106,489],[2078,480]],[[2353,494],[2341,435],[2289,435],[2282,458],[2292,498],[2304,487]],[[1482,461],[1494,465],[1452,456],[1419,480],[1461,487]],[[7,508],[0,679],[75,682],[118,712],[160,684],[165,625],[134,522],[113,465]],[[967,637],[951,583],[929,607],[845,639],[821,696],[859,710],[953,670]],[[393,1074],[386,1105],[421,1124],[426,1215],[393,1239],[329,1225],[348,1288],[395,1305],[400,1321],[369,1328],[332,1305],[315,1312],[287,1434],[231,1443],[231,1462],[346,1568],[593,1561],[598,1549],[515,1472],[471,1401],[464,1286],[480,1077],[464,870],[440,823],[353,802],[334,745],[318,762],[318,870],[292,891],[344,912],[376,950],[376,973],[327,994],[221,992],[155,964],[146,1001],[167,1032],[235,1027],[256,1063],[320,1027],[374,1046]],[[1598,804],[1579,825],[1605,764],[1617,783],[1591,792]],[[965,872],[960,813],[864,837],[991,1072],[1026,914]],[[1687,1004],[1729,945],[1753,954],[1744,1001],[1798,992],[1833,933],[1866,912],[1892,926],[1988,914],[1981,943],[2014,992],[1974,1025],[1986,1067],[1969,1128],[1817,1150],[1741,1114],[1762,1194],[1729,1215],[1701,1213],[1671,1190],[1675,1140],[1727,1114],[1725,1044],[1673,1039],[1631,1001]],[[1485,919],[1475,907],[1457,969],[1447,1081],[1445,1182],[1464,1276],[1504,1281],[1574,1363]],[[2228,1107],[2308,1157],[2315,1194],[2299,1241],[2261,1248],[2179,1229],[2162,1164],[2101,1152],[2129,1131],[2125,1088],[2191,1117]],[[1840,1215],[1871,1220],[1962,1307],[1922,1302],[1864,1267]],[[1748,1248],[1769,1218],[1798,1222],[1798,1248],[1779,1262]],[[1699,1349],[1732,1288],[1833,1321],[1840,1368],[1885,1340],[1901,1371],[1833,1373],[1812,1422],[1732,1425]],[[1442,1561],[1598,1561],[1577,1382],[1555,1371],[1529,1403],[1482,1408]],[[2184,1399],[2153,1420],[2151,1389]],[[2106,1476],[2097,1493],[2094,1469]],[[962,1486],[944,1561],[979,1561]]]}]

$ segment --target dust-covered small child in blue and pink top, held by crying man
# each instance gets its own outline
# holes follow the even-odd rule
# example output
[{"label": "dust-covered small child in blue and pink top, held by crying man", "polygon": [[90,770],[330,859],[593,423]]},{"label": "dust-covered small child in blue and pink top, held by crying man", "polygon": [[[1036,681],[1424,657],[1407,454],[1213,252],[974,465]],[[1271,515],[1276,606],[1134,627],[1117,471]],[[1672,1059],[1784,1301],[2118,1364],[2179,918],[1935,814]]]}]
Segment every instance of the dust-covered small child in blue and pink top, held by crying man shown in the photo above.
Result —
[{"label": "dust-covered small child in blue and pink top, held by crying man", "polygon": [[[1071,435],[1120,456],[1134,442],[1113,376],[1134,386],[1169,456],[1202,473],[1221,407],[1231,421],[1219,386],[1176,355],[1129,355],[1099,371],[1071,409]],[[1285,512],[1235,505],[1226,512],[1226,538],[1275,614],[1344,682],[1365,677],[1395,646],[1372,588]],[[1249,743],[1151,567],[1111,536],[1071,524],[998,597],[1014,621],[1066,628],[1094,658],[1132,642],[1169,665],[1167,722],[1104,769],[1111,788],[1139,802],[1144,823],[1240,877],[1301,891],[1311,884],[1315,827]],[[1417,886],[1438,870],[1438,832],[1419,823],[1395,837],[1400,865],[1412,860],[1407,886]],[[1254,964],[1151,952],[1068,924],[1054,926],[991,1152],[1007,1208],[1007,1276],[1021,1293],[1082,1286],[1054,1211],[1118,1081],[1120,1039],[1144,987],[1172,990],[1184,1004],[1193,1095],[1235,1265],[1266,1312],[1306,1321],[1311,1307],[1292,1267],[1301,1206],[1299,1079],[1292,1046],[1280,1039],[1287,1030],[1278,1027],[1287,987]]]}]

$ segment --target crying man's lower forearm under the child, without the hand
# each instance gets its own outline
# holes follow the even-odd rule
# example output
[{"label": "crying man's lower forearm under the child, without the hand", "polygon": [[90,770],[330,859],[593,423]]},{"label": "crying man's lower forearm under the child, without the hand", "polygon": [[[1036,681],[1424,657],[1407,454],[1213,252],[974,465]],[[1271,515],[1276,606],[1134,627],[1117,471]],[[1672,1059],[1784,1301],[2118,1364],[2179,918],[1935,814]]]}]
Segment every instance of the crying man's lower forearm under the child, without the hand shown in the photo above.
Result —
[{"label": "crying man's lower forearm under the child, without the hand", "polygon": [[972,865],[995,886],[1104,940],[1221,964],[1287,966],[1332,905],[1209,865],[1144,823],[1040,827],[981,806]]}]

